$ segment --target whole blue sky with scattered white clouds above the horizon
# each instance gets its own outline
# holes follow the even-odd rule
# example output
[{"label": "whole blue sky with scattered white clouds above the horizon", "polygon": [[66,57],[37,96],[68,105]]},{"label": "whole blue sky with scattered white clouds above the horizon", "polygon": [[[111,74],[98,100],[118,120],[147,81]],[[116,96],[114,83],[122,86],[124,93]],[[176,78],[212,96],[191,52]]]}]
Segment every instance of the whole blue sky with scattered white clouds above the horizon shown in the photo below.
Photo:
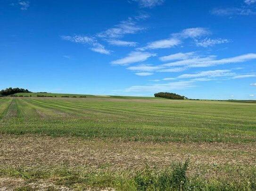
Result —
[{"label": "whole blue sky with scattered white clouds above the horizon", "polygon": [[1,0],[0,89],[256,99],[256,0]]}]

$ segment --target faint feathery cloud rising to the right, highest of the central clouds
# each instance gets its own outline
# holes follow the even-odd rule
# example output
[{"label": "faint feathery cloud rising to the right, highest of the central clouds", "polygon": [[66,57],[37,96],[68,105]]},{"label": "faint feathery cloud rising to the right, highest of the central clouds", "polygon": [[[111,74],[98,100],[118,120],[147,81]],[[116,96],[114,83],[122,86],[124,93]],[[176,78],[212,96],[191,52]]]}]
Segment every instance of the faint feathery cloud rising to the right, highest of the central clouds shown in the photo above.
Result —
[{"label": "faint feathery cloud rising to the right, highest of the central clouds", "polygon": [[132,18],[129,18],[117,24],[114,28],[98,33],[97,36],[100,38],[122,38],[125,34],[136,34],[145,29],[145,27],[140,27],[136,22],[132,21]]}]

